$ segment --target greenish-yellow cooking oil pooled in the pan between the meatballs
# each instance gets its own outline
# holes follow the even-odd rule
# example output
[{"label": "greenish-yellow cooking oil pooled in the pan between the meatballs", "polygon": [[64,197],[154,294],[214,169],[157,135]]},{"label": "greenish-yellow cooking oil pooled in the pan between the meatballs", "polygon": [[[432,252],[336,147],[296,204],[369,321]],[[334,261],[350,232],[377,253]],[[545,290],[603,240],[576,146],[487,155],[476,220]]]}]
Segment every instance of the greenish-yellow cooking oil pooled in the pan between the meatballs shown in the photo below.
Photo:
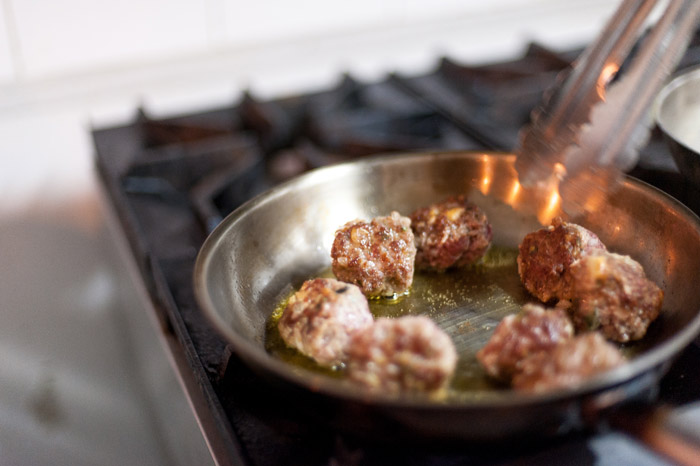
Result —
[{"label": "greenish-yellow cooking oil pooled in the pan between the meatballs", "polygon": [[[450,335],[459,354],[452,390],[492,390],[496,386],[486,377],[475,355],[498,322],[518,312],[531,299],[518,277],[517,254],[517,249],[493,246],[477,265],[444,273],[417,272],[407,294],[393,299],[371,299],[370,310],[375,318],[417,314],[430,317]],[[333,273],[328,268],[318,276],[333,277]],[[267,351],[289,364],[342,377],[342,367],[322,368],[285,345],[277,322],[287,300],[288,297],[277,306],[268,321]]]}]

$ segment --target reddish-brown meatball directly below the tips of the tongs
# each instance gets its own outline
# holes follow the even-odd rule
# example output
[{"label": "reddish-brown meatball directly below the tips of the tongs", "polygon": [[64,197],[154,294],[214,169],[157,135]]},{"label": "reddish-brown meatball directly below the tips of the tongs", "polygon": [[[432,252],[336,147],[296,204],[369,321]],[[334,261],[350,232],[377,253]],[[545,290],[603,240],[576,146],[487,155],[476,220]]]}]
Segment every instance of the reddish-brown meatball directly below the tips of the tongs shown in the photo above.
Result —
[{"label": "reddish-brown meatball directly below the tips of the tongs", "polygon": [[542,302],[571,299],[571,264],[605,249],[594,233],[557,217],[549,227],[523,238],[518,253],[520,280]]}]

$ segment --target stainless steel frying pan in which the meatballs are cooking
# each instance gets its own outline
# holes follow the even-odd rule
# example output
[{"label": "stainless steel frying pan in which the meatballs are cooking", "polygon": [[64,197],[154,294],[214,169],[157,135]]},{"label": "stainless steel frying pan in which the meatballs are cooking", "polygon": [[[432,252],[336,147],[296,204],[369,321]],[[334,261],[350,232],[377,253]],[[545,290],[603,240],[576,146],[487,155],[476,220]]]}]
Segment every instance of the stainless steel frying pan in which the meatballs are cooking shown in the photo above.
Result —
[{"label": "stainless steel frying pan in which the meatballs are cooking", "polygon": [[[517,183],[514,161],[510,154],[484,152],[375,156],[317,169],[273,188],[229,215],[205,241],[194,272],[198,303],[240,358],[280,393],[311,403],[334,426],[365,436],[460,442],[549,436],[653,397],[674,356],[700,331],[694,283],[700,276],[700,220],[632,178],[623,180],[608,203],[571,219],[551,193]],[[304,280],[328,269],[339,226],[392,210],[408,215],[458,193],[486,212],[499,248],[516,248],[525,234],[560,215],[595,232],[610,250],[639,261],[665,298],[661,317],[642,342],[626,349],[629,362],[571,389],[528,394],[484,384],[433,400],[368,393],[266,350],[273,311]],[[498,283],[485,289],[490,294],[424,310],[453,338],[460,361],[473,360],[495,323],[529,299],[522,289],[509,291]]]}]

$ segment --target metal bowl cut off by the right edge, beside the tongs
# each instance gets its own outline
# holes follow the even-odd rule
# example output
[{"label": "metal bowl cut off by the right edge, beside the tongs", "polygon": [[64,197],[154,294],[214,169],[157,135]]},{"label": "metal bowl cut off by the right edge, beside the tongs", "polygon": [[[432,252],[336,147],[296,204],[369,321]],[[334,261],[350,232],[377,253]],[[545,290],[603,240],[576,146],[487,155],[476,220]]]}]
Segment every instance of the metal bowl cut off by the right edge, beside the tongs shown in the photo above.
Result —
[{"label": "metal bowl cut off by the right edge, beside the tongs", "polygon": [[671,80],[659,93],[656,123],[678,170],[700,187],[700,67]]}]

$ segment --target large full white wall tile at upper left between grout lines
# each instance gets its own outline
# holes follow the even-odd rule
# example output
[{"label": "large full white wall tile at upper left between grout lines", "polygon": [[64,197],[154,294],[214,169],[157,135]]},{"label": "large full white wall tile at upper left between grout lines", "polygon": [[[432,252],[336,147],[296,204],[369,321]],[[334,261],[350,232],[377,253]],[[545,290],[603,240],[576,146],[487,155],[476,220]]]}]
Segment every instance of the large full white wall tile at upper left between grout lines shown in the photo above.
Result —
[{"label": "large full white wall tile at upper left between grout lines", "polygon": [[196,0],[5,0],[12,4],[26,78],[159,60],[206,48]]}]

